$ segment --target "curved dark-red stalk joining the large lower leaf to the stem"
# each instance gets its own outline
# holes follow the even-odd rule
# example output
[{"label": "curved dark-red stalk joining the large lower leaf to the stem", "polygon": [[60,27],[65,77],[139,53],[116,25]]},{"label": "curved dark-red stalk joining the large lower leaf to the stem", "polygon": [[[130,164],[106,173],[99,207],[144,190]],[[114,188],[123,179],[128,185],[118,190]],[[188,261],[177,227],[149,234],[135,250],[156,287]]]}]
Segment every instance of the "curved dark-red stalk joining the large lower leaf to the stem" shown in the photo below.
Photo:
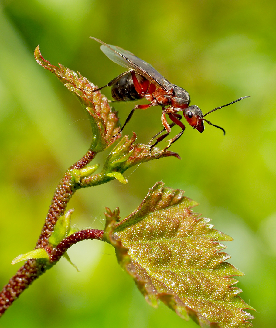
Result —
[{"label": "curved dark-red stalk joining the large lower leaf to the stem", "polygon": [[50,261],[55,262],[68,250],[69,247],[85,239],[102,239],[104,231],[98,229],[85,229],[63,239],[51,252]]}]

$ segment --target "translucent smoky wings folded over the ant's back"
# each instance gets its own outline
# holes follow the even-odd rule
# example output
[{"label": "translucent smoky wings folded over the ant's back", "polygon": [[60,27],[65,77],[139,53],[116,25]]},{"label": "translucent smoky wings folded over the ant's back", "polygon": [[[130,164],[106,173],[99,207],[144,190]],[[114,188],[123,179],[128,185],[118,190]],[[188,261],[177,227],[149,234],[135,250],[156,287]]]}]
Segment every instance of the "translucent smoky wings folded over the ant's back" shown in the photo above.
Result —
[{"label": "translucent smoky wings folded over the ant's back", "polygon": [[114,63],[143,75],[154,85],[169,92],[168,86],[171,85],[171,83],[163,75],[157,72],[150,64],[136,57],[130,51],[106,44],[99,39],[93,38],[92,36],[90,36],[90,38],[102,44],[100,47],[101,51],[103,51],[103,53]]}]

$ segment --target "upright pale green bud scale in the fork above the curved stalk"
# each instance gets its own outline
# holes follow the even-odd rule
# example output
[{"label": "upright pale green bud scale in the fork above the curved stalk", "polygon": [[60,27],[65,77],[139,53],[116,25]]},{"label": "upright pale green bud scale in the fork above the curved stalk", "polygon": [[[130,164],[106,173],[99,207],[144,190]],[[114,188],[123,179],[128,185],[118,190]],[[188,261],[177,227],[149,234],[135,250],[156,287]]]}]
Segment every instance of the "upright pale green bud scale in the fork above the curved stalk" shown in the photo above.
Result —
[{"label": "upright pale green bud scale in the fork above the curved stalk", "polygon": [[49,243],[53,246],[58,245],[65,237],[69,235],[71,215],[74,209],[70,209],[65,215],[62,215],[56,222],[54,231],[49,238]]}]

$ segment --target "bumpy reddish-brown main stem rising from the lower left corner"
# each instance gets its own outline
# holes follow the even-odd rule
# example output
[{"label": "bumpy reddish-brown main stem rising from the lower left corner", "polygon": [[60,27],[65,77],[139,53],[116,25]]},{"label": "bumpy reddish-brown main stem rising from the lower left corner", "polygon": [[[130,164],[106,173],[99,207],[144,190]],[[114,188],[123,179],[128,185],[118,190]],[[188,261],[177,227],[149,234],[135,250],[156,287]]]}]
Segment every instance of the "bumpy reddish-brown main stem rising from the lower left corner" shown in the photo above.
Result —
[{"label": "bumpy reddish-brown main stem rising from the lower left corner", "polygon": [[[56,221],[61,215],[64,215],[67,204],[75,191],[81,188],[80,185],[75,184],[72,181],[70,171],[72,169],[81,169],[85,167],[95,157],[95,154],[96,153],[89,150],[79,161],[69,167],[63,178],[60,180],[52,198],[48,215],[45,219],[44,226],[35,248],[45,248],[49,255],[51,254],[52,249],[49,247],[48,239],[53,232]],[[64,247],[64,249],[66,249],[66,245],[64,245]],[[59,255],[56,256],[56,258],[59,259],[62,255],[62,246],[58,254]],[[49,269],[54,264],[55,263],[49,264],[49,262],[46,264],[45,260],[42,259],[29,259],[26,261],[25,264],[17,271],[17,273],[10,278],[8,284],[5,285],[0,292],[0,316],[8,309],[11,303],[32,283],[33,280],[37,279],[42,273],[44,273],[45,270]]]}]

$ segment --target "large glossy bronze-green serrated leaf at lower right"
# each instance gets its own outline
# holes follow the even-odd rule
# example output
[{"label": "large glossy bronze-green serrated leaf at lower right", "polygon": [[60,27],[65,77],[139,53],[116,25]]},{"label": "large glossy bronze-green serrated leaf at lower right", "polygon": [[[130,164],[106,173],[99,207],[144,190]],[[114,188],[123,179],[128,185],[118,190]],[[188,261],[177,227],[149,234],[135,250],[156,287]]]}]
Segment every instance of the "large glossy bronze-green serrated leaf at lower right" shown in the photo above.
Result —
[{"label": "large glossy bronze-green serrated leaf at lower right", "polygon": [[230,278],[243,273],[224,262],[230,256],[220,252],[226,248],[220,241],[232,238],[193,213],[198,204],[183,193],[159,182],[117,225],[114,212],[110,223],[109,211],[105,240],[151,305],[161,300],[204,328],[250,327],[248,319],[254,317],[244,310],[254,309],[238,296],[237,280]]}]

